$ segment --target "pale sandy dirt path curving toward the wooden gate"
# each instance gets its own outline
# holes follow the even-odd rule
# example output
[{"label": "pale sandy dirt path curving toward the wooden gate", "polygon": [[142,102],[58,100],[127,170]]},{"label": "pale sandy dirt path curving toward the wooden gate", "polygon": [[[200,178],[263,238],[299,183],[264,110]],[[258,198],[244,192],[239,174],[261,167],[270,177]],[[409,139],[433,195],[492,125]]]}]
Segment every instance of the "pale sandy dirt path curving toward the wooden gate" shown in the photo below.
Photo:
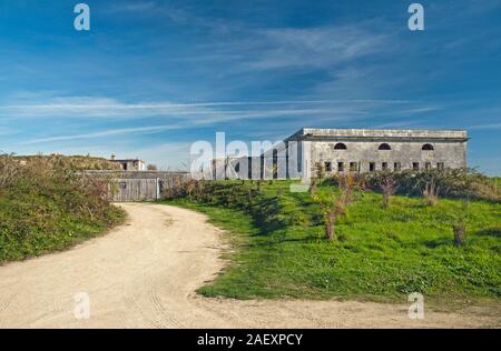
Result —
[{"label": "pale sandy dirt path curving toward the wooden gate", "polygon": [[[497,325],[495,315],[432,313],[337,301],[204,299],[222,269],[219,231],[205,217],[158,204],[122,205],[129,223],[72,250],[0,267],[0,328],[346,328]],[[75,317],[75,295],[90,318]],[[80,314],[81,315],[81,314]],[[499,325],[499,324],[498,324]]]}]

